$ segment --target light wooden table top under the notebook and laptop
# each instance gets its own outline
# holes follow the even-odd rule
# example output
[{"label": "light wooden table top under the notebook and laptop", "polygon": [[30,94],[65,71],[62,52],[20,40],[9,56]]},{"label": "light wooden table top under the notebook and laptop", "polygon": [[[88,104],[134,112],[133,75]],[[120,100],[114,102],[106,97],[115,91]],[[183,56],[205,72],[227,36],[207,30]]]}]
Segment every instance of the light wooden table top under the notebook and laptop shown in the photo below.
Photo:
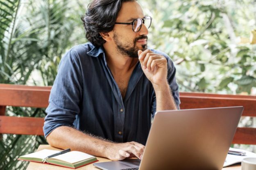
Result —
[{"label": "light wooden table top under the notebook and laptop", "polygon": [[[50,145],[40,145],[39,148],[37,149],[37,151],[43,150],[43,149],[59,150],[58,148],[53,148]],[[102,157],[97,157],[97,159],[99,160],[98,162],[111,161],[109,159],[102,158]],[[27,170],[72,170],[72,169],[64,168],[61,166],[48,165],[48,164],[44,164],[44,163],[30,162],[27,167]],[[77,168],[77,170],[99,170],[99,169],[95,168],[93,166],[93,163],[91,163],[89,165],[82,166],[81,168]],[[223,168],[222,170],[241,170],[241,166],[240,165],[229,166],[227,168]]]}]

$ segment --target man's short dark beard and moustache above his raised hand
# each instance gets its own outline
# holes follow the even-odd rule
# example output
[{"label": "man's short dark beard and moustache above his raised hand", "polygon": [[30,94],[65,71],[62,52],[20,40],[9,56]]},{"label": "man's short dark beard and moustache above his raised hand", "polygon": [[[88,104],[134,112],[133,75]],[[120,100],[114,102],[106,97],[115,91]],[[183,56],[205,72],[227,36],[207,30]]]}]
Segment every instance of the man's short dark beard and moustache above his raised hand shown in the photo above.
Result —
[{"label": "man's short dark beard and moustache above his raised hand", "polygon": [[117,48],[118,52],[123,54],[123,55],[128,55],[129,57],[132,57],[132,58],[138,58],[138,51],[139,50],[145,51],[147,49],[147,44],[141,45],[142,46],[141,49],[136,46],[136,42],[138,40],[141,40],[141,39],[147,39],[147,36],[146,35],[141,35],[140,37],[135,38],[134,41],[133,41],[133,44],[131,46],[131,43],[129,43],[129,42],[122,43],[118,39],[117,33],[114,33],[114,35],[113,35],[113,40],[116,43],[116,48]]}]

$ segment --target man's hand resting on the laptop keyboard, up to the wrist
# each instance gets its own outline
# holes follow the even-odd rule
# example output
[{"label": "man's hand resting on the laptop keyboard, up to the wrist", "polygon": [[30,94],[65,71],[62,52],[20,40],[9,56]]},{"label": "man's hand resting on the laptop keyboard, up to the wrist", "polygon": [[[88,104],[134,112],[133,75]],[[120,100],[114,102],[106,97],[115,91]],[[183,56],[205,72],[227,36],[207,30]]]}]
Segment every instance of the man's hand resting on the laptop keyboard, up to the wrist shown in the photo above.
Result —
[{"label": "man's hand resting on the laptop keyboard, up to the wrist", "polygon": [[112,161],[120,161],[125,158],[142,158],[145,146],[137,142],[127,142],[123,144],[110,144],[106,148],[106,157]]}]

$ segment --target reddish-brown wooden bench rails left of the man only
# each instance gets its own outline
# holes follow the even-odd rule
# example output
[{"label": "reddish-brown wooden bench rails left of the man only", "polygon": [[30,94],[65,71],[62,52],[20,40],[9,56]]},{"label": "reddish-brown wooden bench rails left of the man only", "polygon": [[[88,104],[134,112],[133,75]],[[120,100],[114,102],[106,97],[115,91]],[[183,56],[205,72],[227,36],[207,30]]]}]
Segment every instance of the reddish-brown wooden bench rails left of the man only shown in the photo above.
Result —
[{"label": "reddish-brown wooden bench rails left of the man only", "polygon": [[51,87],[0,84],[0,134],[43,135],[43,118],[5,116],[6,106],[46,108]]}]

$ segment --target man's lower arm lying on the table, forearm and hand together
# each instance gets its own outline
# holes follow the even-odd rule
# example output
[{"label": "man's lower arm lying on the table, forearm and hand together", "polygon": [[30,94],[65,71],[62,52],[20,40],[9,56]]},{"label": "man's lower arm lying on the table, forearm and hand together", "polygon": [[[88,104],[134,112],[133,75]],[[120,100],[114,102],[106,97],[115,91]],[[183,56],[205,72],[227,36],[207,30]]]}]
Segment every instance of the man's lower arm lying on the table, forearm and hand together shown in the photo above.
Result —
[{"label": "man's lower arm lying on the table, forearm and hand together", "polygon": [[106,157],[112,161],[127,157],[141,159],[145,148],[142,144],[134,141],[122,144],[104,141],[68,126],[60,126],[54,129],[46,139],[51,146],[62,149],[70,148],[97,157]]}]

